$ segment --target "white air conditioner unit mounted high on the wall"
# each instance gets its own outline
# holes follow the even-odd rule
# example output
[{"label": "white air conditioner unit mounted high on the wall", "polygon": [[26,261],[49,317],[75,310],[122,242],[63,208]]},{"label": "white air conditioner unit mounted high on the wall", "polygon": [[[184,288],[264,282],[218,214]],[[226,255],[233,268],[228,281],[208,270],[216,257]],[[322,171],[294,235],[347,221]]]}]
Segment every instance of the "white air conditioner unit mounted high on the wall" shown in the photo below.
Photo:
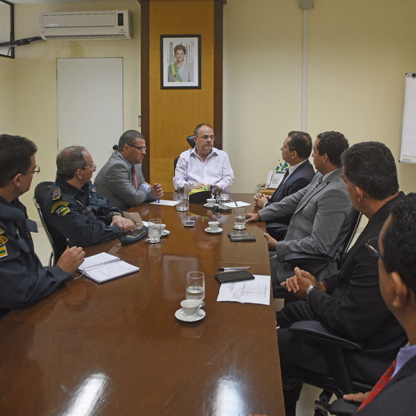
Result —
[{"label": "white air conditioner unit mounted high on the wall", "polygon": [[39,34],[45,40],[131,39],[130,10],[40,13]]}]

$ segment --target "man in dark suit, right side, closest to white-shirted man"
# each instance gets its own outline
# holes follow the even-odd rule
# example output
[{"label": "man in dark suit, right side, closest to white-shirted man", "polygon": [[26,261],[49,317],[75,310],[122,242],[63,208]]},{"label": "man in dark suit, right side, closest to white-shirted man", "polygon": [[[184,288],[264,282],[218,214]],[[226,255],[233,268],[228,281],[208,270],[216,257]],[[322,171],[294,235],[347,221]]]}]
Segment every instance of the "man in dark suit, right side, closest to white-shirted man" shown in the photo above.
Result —
[{"label": "man in dark suit, right side, closest to white-shirted man", "polygon": [[[282,159],[289,163],[290,167],[273,195],[264,195],[264,193],[254,195],[253,200],[256,207],[268,207],[273,202],[279,202],[286,196],[305,188],[315,175],[312,164],[307,160],[312,152],[312,139],[309,134],[303,131],[289,131],[280,150],[282,151]],[[291,214],[282,216],[278,222],[275,220],[266,221],[267,232],[276,240],[284,239],[290,218]]]}]

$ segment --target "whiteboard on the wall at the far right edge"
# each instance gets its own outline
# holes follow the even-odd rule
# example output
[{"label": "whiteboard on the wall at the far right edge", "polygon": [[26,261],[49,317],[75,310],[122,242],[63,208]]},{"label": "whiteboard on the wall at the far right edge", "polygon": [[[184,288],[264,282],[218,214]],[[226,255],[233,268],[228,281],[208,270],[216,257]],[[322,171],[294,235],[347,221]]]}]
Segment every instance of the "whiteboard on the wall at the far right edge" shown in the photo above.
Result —
[{"label": "whiteboard on the wall at the far right edge", "polygon": [[416,163],[416,73],[404,81],[403,122],[401,127],[401,162]]}]

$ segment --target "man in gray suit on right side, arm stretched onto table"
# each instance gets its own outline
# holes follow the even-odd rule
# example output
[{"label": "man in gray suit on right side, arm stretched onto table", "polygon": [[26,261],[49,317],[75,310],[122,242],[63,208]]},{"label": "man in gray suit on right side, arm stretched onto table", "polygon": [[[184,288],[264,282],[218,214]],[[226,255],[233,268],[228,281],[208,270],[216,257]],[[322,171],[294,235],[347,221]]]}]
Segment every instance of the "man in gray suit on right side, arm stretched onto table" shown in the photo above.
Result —
[{"label": "man in gray suit on right side, arm stretched onto table", "polygon": [[[273,288],[294,275],[293,267],[282,261],[290,253],[326,254],[337,258],[346,238],[355,210],[342,178],[341,154],[349,147],[343,134],[326,131],[317,136],[312,157],[317,173],[305,188],[280,202],[247,214],[247,222],[278,220],[293,214],[285,240],[276,241],[265,233],[270,257]],[[313,269],[312,269],[313,270]],[[319,272],[323,279],[336,271],[329,264]]]}]

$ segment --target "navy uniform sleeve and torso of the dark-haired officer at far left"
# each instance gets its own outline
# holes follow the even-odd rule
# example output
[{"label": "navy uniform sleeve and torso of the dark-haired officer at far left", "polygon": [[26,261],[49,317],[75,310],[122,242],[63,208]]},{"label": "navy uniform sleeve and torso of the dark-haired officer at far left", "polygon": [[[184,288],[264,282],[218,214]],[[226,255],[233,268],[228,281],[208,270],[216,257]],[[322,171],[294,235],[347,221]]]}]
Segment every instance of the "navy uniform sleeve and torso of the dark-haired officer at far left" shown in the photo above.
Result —
[{"label": "navy uniform sleeve and torso of the dark-haired officer at far left", "polygon": [[71,277],[40,264],[30,231],[37,231],[36,223],[27,218],[22,202],[0,196],[0,317],[40,301]]}]

